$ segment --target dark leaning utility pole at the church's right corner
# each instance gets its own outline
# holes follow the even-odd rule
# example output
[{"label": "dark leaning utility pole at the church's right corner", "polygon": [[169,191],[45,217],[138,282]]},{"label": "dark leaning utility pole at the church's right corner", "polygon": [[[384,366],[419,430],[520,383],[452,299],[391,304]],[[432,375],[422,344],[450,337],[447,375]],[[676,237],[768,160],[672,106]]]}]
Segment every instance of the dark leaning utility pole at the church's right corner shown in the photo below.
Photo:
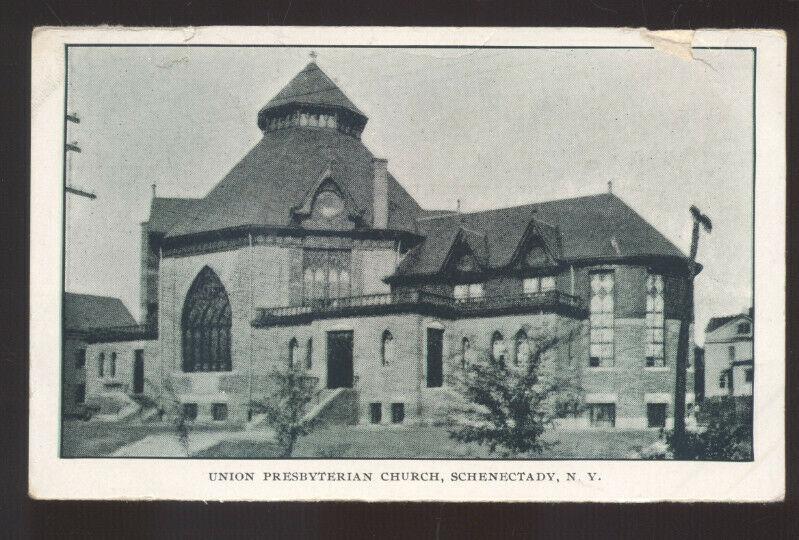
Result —
[{"label": "dark leaning utility pole at the church's right corner", "polygon": [[691,206],[691,216],[694,228],[691,234],[691,251],[688,255],[688,276],[682,295],[682,317],[680,320],[680,334],[677,341],[677,366],[674,382],[674,457],[681,459],[685,455],[685,390],[686,370],[688,366],[688,327],[691,324],[693,313],[694,277],[696,277],[696,252],[699,249],[699,226],[710,233],[713,223],[710,218],[699,211],[696,206]]}]

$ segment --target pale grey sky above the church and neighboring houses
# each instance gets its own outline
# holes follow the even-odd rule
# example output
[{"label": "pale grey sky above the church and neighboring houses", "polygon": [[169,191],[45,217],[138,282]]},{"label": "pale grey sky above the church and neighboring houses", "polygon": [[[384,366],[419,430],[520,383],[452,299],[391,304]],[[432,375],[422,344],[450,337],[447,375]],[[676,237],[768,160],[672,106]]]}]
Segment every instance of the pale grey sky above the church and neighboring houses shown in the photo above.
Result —
[{"label": "pale grey sky above the church and neighboring houses", "polygon": [[[260,139],[258,110],[309,61],[295,47],[71,47],[66,288],[139,317],[151,184],[202,197]],[[368,117],[363,141],[424,208],[464,211],[602,193],[688,252],[698,343],[752,302],[752,53],[644,49],[318,48]],[[61,126],[58,126],[61,129]],[[590,227],[590,224],[586,224]]]}]

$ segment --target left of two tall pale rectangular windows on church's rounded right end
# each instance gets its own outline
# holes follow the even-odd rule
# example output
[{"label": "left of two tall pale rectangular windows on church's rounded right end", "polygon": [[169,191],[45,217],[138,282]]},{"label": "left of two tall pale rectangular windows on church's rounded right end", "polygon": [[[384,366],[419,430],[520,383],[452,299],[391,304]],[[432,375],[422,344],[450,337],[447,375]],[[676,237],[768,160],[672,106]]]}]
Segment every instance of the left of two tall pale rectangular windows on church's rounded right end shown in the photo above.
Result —
[{"label": "left of two tall pale rectangular windows on church's rounded right end", "polygon": [[613,365],[613,271],[591,273],[591,367]]}]

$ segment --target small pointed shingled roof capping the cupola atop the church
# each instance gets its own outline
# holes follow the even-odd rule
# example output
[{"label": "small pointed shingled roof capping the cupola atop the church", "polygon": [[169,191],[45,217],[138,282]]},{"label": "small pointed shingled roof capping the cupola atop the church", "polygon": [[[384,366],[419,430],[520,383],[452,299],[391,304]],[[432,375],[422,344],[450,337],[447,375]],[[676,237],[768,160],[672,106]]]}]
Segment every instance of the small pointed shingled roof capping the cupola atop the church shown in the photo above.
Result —
[{"label": "small pointed shingled roof capping the cupola atop the church", "polygon": [[315,62],[310,62],[275,97],[269,100],[260,111],[259,117],[269,109],[277,109],[290,104],[320,105],[347,109],[366,119],[344,92]]}]

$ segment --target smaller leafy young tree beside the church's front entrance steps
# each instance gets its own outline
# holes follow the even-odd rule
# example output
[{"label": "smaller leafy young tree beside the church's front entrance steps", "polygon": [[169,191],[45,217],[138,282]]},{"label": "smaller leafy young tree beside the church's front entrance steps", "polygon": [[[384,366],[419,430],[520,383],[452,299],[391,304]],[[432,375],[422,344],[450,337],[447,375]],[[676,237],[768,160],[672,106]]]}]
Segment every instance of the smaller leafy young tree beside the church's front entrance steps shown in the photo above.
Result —
[{"label": "smaller leafy young tree beside the church's front entrance steps", "polygon": [[313,422],[305,416],[318,382],[317,377],[296,365],[274,370],[269,374],[272,394],[251,403],[252,410],[265,414],[266,423],[275,430],[281,457],[291,457],[297,440],[313,429]]}]

